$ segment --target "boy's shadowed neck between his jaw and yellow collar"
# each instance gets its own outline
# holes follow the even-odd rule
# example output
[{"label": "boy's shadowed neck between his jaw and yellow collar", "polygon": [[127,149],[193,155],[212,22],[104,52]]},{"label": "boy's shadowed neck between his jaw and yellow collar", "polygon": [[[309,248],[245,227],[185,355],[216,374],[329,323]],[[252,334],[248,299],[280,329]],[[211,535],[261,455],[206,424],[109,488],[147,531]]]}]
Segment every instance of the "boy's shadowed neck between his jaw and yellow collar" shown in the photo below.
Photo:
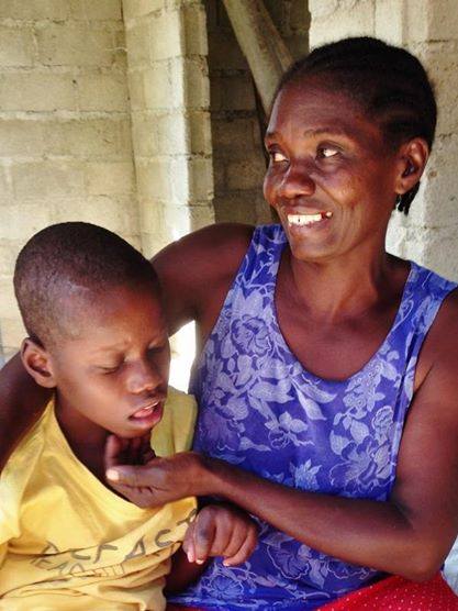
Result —
[{"label": "boy's shadowed neck between his jaw and yellow collar", "polygon": [[75,456],[96,477],[104,479],[103,453],[109,432],[77,410],[55,399],[55,413],[60,430]]}]

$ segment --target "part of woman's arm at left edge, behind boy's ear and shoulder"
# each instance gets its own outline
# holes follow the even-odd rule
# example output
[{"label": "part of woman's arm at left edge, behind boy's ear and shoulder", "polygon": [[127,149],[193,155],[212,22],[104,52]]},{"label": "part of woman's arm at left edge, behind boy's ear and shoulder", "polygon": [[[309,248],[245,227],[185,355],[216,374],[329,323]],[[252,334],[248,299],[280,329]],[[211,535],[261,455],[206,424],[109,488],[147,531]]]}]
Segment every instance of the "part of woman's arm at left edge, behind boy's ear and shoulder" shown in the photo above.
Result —
[{"label": "part of woman's arm at left edge, behind boy's ear and shoulder", "polygon": [[0,469],[49,397],[51,391],[36,385],[26,373],[19,354],[0,370]]}]

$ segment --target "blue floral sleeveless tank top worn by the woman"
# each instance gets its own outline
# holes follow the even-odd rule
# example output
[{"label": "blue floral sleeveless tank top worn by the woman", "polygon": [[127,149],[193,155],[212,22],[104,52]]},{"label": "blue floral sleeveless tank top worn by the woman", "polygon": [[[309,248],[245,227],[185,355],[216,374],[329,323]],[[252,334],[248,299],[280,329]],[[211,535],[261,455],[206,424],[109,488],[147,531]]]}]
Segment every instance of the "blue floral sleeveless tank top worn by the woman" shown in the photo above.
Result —
[{"label": "blue floral sleeveless tank top worn by the woman", "polygon": [[[456,285],[412,263],[394,323],[379,351],[344,381],[317,378],[289,349],[273,303],[280,225],[257,227],[220,318],[197,363],[194,448],[301,490],[386,500],[413,393],[417,355]],[[259,521],[244,565],[216,559],[174,597],[224,610],[306,610],[380,574],[300,543]]]}]

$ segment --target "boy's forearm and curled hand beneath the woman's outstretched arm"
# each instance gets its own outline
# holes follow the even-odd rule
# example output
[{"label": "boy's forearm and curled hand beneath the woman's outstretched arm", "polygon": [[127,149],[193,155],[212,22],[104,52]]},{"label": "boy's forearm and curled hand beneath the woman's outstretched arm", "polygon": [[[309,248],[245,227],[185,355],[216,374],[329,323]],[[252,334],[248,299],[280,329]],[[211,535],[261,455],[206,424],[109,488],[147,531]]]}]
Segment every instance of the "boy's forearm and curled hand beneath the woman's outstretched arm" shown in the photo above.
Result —
[{"label": "boy's forearm and curled hand beneath the woman's outstretched arm", "polygon": [[166,590],[179,592],[196,581],[209,558],[222,556],[223,564],[235,566],[253,554],[257,544],[256,523],[231,504],[210,504],[190,524],[182,547],[174,555]]}]

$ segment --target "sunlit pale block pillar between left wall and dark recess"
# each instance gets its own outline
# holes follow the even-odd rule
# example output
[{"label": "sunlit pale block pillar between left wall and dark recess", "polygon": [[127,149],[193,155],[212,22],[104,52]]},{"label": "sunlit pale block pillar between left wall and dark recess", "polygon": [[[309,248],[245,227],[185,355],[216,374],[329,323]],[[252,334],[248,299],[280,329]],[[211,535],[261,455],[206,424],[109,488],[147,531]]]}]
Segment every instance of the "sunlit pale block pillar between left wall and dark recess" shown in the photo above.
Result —
[{"label": "sunlit pale block pillar between left wall and dark recess", "polygon": [[198,0],[124,0],[141,235],[153,255],[210,224],[205,13]]}]

